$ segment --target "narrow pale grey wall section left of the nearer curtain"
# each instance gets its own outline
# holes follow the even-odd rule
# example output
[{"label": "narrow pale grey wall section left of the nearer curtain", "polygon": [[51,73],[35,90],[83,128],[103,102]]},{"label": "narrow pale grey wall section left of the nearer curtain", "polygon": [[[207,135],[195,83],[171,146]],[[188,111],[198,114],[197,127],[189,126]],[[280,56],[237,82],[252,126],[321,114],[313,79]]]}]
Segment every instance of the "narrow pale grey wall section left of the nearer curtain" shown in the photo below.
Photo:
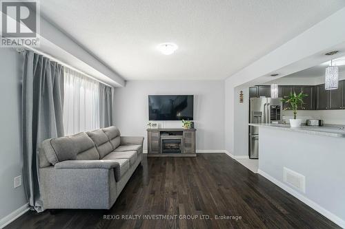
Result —
[{"label": "narrow pale grey wall section left of the nearer curtain", "polygon": [[23,186],[13,188],[21,175],[21,54],[0,48],[0,219],[28,201]]}]

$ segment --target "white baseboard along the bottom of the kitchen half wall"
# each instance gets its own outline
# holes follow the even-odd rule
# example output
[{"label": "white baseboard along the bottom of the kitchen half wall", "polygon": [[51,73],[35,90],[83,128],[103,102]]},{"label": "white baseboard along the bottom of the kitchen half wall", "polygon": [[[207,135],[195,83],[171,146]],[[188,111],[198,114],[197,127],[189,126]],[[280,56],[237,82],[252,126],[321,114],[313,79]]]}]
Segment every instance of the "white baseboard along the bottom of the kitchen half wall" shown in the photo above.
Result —
[{"label": "white baseboard along the bottom of the kitchen half wall", "polygon": [[329,212],[325,208],[322,208],[322,206],[319,206],[319,204],[315,203],[311,199],[308,199],[301,193],[297,192],[297,190],[294,190],[290,186],[284,184],[283,182],[280,182],[278,179],[275,179],[275,177],[268,175],[267,173],[265,173],[264,171],[260,169],[258,169],[257,173],[259,173],[260,175],[268,179],[273,184],[276,184],[277,186],[279,186],[279,188],[286,190],[286,192],[290,193],[290,195],[293,195],[300,201],[304,202],[304,204],[310,206],[311,208],[319,212],[321,215],[324,215],[324,217],[330,219],[334,223],[337,223],[337,225],[341,226],[342,228],[345,228],[345,221],[343,219],[337,217],[336,215],[334,215],[332,212]]}]

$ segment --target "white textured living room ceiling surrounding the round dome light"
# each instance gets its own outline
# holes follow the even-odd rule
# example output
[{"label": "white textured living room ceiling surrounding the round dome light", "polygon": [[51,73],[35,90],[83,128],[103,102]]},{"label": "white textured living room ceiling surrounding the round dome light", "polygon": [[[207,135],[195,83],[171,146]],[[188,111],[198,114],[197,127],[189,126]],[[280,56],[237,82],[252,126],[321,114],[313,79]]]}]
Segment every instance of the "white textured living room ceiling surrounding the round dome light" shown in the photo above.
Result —
[{"label": "white textured living room ceiling surrounding the round dome light", "polygon": [[[41,14],[126,80],[224,79],[344,0],[44,0]],[[157,52],[159,43],[179,50]]]}]

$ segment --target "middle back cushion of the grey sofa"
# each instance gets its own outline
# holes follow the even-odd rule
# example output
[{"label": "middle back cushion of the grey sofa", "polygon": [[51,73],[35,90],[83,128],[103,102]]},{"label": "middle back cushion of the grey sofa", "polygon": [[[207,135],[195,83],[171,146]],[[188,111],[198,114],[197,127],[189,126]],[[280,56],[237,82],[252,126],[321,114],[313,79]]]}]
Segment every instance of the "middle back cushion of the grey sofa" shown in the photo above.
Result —
[{"label": "middle back cushion of the grey sofa", "polygon": [[112,145],[109,142],[108,136],[101,129],[89,131],[87,134],[92,141],[95,142],[99,158],[103,158],[105,155],[112,152]]}]

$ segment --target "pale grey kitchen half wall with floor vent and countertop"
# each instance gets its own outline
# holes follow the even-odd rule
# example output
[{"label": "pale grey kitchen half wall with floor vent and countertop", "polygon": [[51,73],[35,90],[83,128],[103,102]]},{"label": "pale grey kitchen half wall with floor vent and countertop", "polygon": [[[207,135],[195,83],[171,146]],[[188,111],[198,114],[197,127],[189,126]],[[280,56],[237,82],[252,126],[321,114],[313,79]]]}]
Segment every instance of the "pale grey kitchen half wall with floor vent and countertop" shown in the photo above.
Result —
[{"label": "pale grey kitchen half wall with floor vent and countertop", "polygon": [[259,127],[258,173],[345,228],[344,126],[249,125]]}]

